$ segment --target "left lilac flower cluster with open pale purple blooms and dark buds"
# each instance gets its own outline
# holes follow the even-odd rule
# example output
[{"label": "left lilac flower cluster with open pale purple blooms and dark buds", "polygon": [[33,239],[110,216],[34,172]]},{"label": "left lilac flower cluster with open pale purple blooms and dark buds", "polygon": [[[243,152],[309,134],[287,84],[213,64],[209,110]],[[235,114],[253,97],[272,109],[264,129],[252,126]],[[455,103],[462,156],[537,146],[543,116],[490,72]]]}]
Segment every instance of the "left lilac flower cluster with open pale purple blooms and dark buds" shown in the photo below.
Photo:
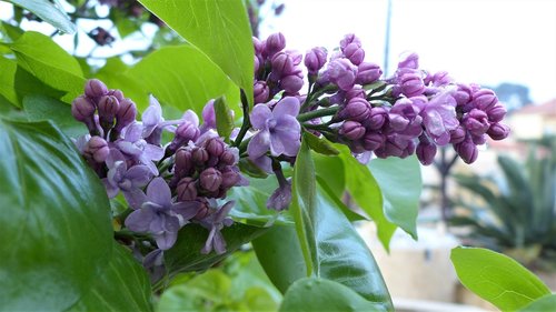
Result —
[{"label": "left lilac flower cluster with open pale purple blooms and dark buds", "polygon": [[[151,97],[139,122],[131,100],[93,79],[71,112],[89,130],[76,141],[79,151],[102,179],[108,197],[121,192],[129,205],[125,225],[156,242],[145,261],[170,249],[178,231],[191,222],[208,230],[201,252],[226,251],[220,230],[232,223],[227,214],[234,202],[219,207],[217,199],[246,180],[237,167],[238,149],[215,130],[212,101],[203,110],[207,122],[200,125],[190,110],[178,120],[165,120],[160,103]],[[162,147],[163,131],[173,138]]]}]

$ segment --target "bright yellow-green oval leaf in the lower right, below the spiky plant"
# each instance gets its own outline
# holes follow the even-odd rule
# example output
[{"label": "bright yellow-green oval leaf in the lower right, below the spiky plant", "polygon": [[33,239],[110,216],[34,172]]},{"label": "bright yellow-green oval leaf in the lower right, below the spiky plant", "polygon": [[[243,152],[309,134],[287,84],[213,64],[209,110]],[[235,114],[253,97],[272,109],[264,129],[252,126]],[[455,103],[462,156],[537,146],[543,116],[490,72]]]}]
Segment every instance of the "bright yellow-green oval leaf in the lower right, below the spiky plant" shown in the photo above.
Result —
[{"label": "bright yellow-green oval leaf in the lower right, below the spiky plant", "polygon": [[502,311],[515,311],[550,290],[532,272],[504,254],[479,248],[455,248],[450,255],[459,281]]}]

